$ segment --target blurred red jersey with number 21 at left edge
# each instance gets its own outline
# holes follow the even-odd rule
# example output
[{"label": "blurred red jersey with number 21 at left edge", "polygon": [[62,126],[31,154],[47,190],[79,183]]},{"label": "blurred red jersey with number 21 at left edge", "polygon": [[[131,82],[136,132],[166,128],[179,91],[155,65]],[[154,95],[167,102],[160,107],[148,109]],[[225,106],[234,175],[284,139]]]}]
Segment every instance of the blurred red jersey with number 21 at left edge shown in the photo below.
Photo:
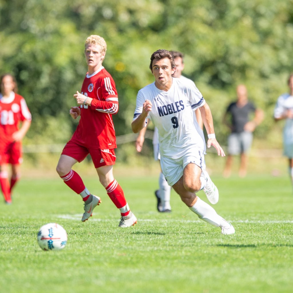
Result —
[{"label": "blurred red jersey with number 21 at left edge", "polygon": [[19,129],[19,122],[31,120],[25,99],[11,92],[9,98],[0,94],[0,142],[13,142],[12,134]]}]

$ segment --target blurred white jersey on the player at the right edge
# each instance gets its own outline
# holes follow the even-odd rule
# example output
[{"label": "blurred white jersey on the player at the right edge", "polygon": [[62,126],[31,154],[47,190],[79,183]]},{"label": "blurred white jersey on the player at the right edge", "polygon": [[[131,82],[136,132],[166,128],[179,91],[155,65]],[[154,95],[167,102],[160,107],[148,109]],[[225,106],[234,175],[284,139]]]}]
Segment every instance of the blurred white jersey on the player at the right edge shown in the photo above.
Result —
[{"label": "blurred white jersey on the player at the right edge", "polygon": [[[276,103],[274,117],[280,118],[287,110],[293,111],[293,96],[282,94]],[[284,127],[284,144],[293,144],[293,119],[287,118]],[[292,152],[292,151],[291,151]]]}]

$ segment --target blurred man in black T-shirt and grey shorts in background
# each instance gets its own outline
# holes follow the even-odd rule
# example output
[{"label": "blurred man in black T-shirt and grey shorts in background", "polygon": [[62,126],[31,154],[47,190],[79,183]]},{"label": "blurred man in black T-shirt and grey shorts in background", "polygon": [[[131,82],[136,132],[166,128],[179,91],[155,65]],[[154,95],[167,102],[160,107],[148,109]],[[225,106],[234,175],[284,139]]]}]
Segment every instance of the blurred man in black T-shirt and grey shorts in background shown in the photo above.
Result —
[{"label": "blurred man in black T-shirt and grey shorts in background", "polygon": [[[228,155],[223,173],[225,178],[231,175],[233,156],[239,154],[239,176],[246,176],[247,152],[251,148],[253,131],[263,120],[263,111],[255,108],[254,104],[248,101],[246,86],[243,84],[238,85],[236,92],[237,100],[228,106],[223,118],[224,124],[231,130],[231,134],[228,137]],[[250,119],[251,113],[254,114],[252,120]]]}]

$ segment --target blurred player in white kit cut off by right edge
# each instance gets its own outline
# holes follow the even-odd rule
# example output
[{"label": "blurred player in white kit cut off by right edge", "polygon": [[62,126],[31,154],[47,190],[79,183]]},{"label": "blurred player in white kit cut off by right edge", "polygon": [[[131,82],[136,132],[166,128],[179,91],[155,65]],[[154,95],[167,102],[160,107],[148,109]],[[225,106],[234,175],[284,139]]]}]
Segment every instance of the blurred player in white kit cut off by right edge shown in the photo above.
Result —
[{"label": "blurred player in white kit cut off by right edge", "polygon": [[288,79],[289,93],[282,94],[276,103],[275,121],[285,119],[283,130],[284,155],[289,159],[289,175],[293,184],[293,74]]}]

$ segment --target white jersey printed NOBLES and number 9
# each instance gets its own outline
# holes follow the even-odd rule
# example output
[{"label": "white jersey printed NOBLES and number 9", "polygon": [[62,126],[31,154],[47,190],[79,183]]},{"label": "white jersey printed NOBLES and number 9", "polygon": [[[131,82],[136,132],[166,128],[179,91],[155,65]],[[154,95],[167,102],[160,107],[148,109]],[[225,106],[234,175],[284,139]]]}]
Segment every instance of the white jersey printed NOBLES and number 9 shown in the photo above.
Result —
[{"label": "white jersey printed NOBLES and number 9", "polygon": [[142,113],[145,100],[150,100],[153,106],[147,118],[158,128],[160,154],[177,159],[189,147],[204,150],[194,111],[205,104],[205,99],[194,83],[187,84],[180,78],[172,81],[168,91],[158,89],[155,83],[142,88],[137,94],[134,119]]}]

